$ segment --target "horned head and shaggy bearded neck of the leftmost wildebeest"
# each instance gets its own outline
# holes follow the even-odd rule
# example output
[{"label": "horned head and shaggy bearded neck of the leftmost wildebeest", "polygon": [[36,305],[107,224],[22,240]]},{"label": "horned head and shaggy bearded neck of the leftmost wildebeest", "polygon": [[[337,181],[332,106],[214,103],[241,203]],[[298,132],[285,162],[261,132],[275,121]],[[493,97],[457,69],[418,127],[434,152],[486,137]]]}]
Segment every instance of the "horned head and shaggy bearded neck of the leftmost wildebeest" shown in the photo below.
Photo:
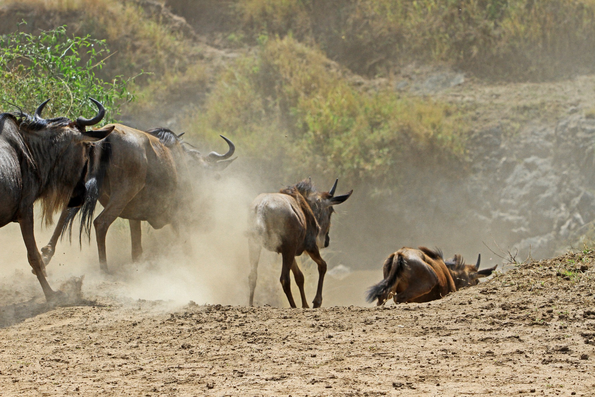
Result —
[{"label": "horned head and shaggy bearded neck of the leftmost wildebeest", "polygon": [[49,99],[39,105],[33,115],[22,111],[14,114],[29,149],[32,160],[30,164],[36,170],[46,222],[51,223],[52,214],[61,210],[70,200],[73,189],[82,178],[84,164],[88,158],[88,144],[104,139],[114,129],[111,126],[86,130],[87,126],[99,123],[105,115],[104,107],[95,99],[89,99],[98,107],[97,114],[90,119],[45,119],[42,117],[42,111]]}]

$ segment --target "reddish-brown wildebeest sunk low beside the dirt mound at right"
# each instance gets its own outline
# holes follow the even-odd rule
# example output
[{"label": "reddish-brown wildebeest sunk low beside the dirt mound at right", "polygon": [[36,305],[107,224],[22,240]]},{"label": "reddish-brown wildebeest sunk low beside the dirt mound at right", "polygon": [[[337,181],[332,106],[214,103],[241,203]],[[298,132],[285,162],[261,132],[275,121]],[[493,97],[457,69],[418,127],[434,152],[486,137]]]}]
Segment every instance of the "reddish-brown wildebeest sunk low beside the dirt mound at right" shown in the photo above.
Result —
[{"label": "reddish-brown wildebeest sunk low beside the dirt mound at right", "polygon": [[384,304],[390,296],[395,303],[424,303],[443,298],[468,285],[477,285],[496,268],[478,271],[477,264],[466,265],[461,255],[444,262],[442,252],[425,247],[401,248],[384,261],[384,280],[368,290],[368,302]]}]

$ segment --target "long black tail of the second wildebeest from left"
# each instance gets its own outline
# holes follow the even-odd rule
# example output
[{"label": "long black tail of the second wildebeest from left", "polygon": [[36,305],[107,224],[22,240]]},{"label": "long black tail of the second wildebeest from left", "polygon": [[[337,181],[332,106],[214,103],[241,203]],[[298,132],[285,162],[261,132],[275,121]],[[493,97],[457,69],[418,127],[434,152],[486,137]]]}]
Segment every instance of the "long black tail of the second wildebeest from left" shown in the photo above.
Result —
[{"label": "long black tail of the second wildebeest from left", "polygon": [[83,235],[86,235],[87,240],[91,239],[93,214],[95,213],[95,206],[99,200],[101,186],[104,183],[105,173],[109,162],[111,161],[111,155],[112,149],[111,142],[109,142],[109,136],[101,142],[91,146],[89,151],[89,171],[84,182],[86,188],[84,202],[81,207],[68,209],[66,221],[64,222],[64,226],[62,226],[62,237],[64,237],[65,233],[68,233],[68,238],[70,239],[74,218],[79,214],[79,243],[82,244]]}]

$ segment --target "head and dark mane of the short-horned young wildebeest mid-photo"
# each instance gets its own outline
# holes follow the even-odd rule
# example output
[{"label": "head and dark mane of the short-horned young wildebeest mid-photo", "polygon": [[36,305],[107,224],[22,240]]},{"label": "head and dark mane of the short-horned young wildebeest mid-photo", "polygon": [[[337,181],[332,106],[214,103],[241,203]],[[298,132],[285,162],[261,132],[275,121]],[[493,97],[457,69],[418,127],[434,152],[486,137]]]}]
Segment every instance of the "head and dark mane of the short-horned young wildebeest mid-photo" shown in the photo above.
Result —
[{"label": "head and dark mane of the short-horned young wildebeest mid-photo", "polygon": [[312,212],[314,212],[318,226],[320,226],[317,236],[317,245],[320,248],[326,248],[330,242],[328,231],[331,227],[331,215],[334,212],[333,205],[341,204],[353,193],[353,190],[350,190],[350,192],[344,195],[335,196],[334,193],[338,182],[339,179],[336,179],[333,187],[328,192],[317,192],[309,178],[295,185],[297,191],[308,201]]}]

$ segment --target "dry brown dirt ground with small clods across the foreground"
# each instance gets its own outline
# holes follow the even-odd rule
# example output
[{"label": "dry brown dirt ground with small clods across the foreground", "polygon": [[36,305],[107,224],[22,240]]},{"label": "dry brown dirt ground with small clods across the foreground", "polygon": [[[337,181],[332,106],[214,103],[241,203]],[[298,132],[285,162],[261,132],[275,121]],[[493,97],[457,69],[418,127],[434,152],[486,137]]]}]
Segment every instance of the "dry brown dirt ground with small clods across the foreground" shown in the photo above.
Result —
[{"label": "dry brown dirt ground with small clods across the foreground", "polygon": [[0,308],[0,396],[593,396],[594,262],[525,264],[430,304],[17,302]]}]

